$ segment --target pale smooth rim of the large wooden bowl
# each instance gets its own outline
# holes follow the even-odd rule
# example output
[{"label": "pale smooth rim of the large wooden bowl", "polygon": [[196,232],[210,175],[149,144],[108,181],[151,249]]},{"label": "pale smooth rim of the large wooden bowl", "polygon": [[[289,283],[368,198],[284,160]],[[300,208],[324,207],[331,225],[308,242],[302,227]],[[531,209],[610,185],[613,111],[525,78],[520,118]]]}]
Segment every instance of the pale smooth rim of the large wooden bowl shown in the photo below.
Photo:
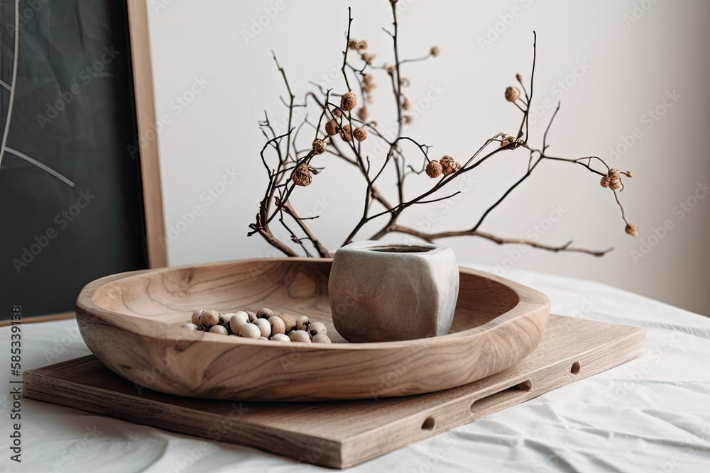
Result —
[{"label": "pale smooth rim of the large wooden bowl", "polygon": [[[410,340],[398,340],[393,342],[366,342],[366,343],[306,343],[306,342],[274,342],[272,340],[258,340],[251,338],[241,338],[241,337],[225,337],[217,333],[207,333],[198,332],[194,330],[186,330],[179,325],[172,325],[170,323],[165,323],[162,321],[151,320],[150,318],[142,318],[139,316],[132,316],[126,313],[120,313],[116,311],[111,311],[107,308],[100,306],[95,300],[97,292],[100,289],[108,286],[109,284],[116,284],[125,279],[139,279],[141,276],[146,274],[161,274],[175,271],[182,271],[185,269],[196,269],[204,267],[219,267],[219,266],[229,266],[236,264],[249,264],[250,262],[261,262],[262,258],[251,258],[247,260],[231,260],[225,262],[216,263],[204,263],[200,265],[182,265],[175,267],[163,267],[154,269],[138,269],[136,271],[122,272],[117,274],[111,274],[109,276],[101,277],[99,279],[94,279],[94,281],[89,282],[86,286],[82,288],[76,301],[76,313],[79,316],[85,313],[89,316],[99,318],[108,325],[114,326],[116,328],[121,328],[134,335],[143,335],[149,338],[160,338],[165,342],[174,343],[195,343],[195,342],[209,342],[216,343],[219,345],[256,345],[271,348],[288,348],[297,347],[300,350],[391,350],[402,347],[411,347],[412,345],[425,345],[425,346],[444,346],[452,343],[459,343],[461,338],[474,338],[481,333],[485,333],[488,330],[493,330],[494,328],[506,324],[513,323],[515,319],[524,317],[539,315],[540,311],[545,311],[546,315],[550,314],[550,299],[542,294],[542,292],[532,289],[523,284],[518,284],[517,282],[510,281],[503,277],[499,277],[496,274],[491,274],[488,272],[480,271],[478,269],[473,269],[469,267],[464,267],[459,265],[459,272],[465,274],[471,274],[478,277],[483,277],[485,279],[492,279],[508,289],[513,291],[513,293],[518,297],[518,303],[515,304],[510,310],[501,313],[499,316],[491,319],[490,321],[478,325],[474,328],[469,328],[466,330],[461,330],[456,333],[448,333],[447,335],[439,335],[437,337],[430,338],[413,338]],[[291,262],[291,263],[324,263],[331,262],[333,258],[314,258],[314,257],[278,257],[270,258],[269,262]],[[78,317],[77,317],[78,318]],[[140,321],[136,323],[135,321]],[[537,326],[537,325],[536,325]],[[153,330],[151,330],[151,328]],[[540,330],[540,335],[542,335],[542,328],[538,327]],[[159,333],[160,335],[157,335]]]}]

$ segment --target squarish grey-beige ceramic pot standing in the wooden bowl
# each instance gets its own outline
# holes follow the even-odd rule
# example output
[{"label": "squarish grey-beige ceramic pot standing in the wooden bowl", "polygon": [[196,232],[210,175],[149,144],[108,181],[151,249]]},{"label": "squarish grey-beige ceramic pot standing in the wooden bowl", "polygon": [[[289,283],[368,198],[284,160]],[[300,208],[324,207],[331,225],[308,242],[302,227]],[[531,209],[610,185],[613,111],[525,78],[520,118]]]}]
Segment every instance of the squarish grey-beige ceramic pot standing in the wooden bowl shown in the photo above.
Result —
[{"label": "squarish grey-beige ceramic pot standing in the wooden bowl", "polygon": [[459,267],[443,245],[360,241],[335,253],[328,291],[335,328],[349,342],[446,335]]}]

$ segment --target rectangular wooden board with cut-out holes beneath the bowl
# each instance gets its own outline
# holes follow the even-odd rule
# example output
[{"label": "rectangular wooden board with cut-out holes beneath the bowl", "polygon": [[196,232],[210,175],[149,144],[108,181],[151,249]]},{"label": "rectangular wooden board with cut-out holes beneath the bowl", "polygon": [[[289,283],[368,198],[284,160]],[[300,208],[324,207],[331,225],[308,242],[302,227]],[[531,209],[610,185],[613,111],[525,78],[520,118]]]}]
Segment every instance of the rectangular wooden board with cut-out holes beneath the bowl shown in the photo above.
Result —
[{"label": "rectangular wooden board with cut-out holes beneath the bowl", "polygon": [[[94,356],[25,372],[23,394],[299,462],[346,468],[633,360],[643,354],[644,336],[645,330],[628,325],[550,316],[542,343],[518,365],[417,396],[288,403],[192,399],[139,392]],[[391,376],[406,369],[393,366]],[[373,387],[377,392],[378,386]]]}]

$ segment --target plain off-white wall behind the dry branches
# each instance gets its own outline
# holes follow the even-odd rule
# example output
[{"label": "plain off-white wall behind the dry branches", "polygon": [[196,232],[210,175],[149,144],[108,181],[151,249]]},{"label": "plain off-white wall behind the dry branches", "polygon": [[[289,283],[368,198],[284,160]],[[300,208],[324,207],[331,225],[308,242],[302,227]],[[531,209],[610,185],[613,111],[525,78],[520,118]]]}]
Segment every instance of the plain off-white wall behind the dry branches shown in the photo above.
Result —
[{"label": "plain off-white wall behind the dry branches", "polygon": [[[503,90],[514,84],[516,72],[529,77],[536,30],[535,102],[562,100],[550,151],[599,155],[635,176],[621,198],[629,221],[640,227],[638,238],[623,232],[613,195],[599,187],[597,177],[579,166],[551,162],[481,228],[503,237],[537,235],[550,244],[573,239],[594,249],[613,246],[606,257],[444,240],[459,261],[496,265],[503,275],[506,268],[519,267],[594,279],[710,314],[710,198],[703,187],[710,177],[709,2],[400,0],[398,5],[403,57],[420,56],[432,45],[442,50],[435,60],[403,71],[412,82],[410,101],[420,105],[406,133],[433,145],[432,155],[465,160],[486,138],[513,131],[520,112],[503,100]],[[347,6],[148,1],[155,101],[163,122],[156,128],[170,265],[275,255],[258,236],[246,237],[266,185],[257,121],[264,110],[272,121],[283,121],[278,96],[285,91],[271,50],[297,95],[312,87],[309,81],[342,93],[337,69]],[[391,62],[391,41],[381,30],[391,23],[388,1],[356,2],[353,16],[353,37],[369,41],[376,63]],[[372,118],[387,129],[393,125],[392,96],[384,77],[378,83]],[[427,94],[433,98],[428,102]],[[532,139],[541,140],[552,109],[537,108],[536,114]],[[371,156],[378,158],[376,152]],[[522,152],[503,153],[479,168],[453,205],[411,209],[403,223],[422,230],[470,227],[526,164]],[[312,227],[335,249],[356,221],[363,186],[326,157],[317,165],[327,172],[294,202],[301,213],[321,216]],[[414,182],[410,195],[431,185],[425,177],[417,179],[423,181]],[[555,208],[562,216],[552,223],[548,218]]]}]

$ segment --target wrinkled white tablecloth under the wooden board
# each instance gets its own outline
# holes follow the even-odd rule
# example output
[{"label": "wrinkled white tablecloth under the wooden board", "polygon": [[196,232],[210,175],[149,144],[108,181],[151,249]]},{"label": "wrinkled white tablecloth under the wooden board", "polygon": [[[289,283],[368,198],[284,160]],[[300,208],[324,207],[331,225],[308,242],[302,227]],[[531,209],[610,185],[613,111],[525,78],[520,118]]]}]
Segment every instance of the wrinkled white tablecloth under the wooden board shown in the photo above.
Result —
[{"label": "wrinkled white tablecloth under the wooden board", "polygon": [[[347,471],[710,472],[710,318],[594,282],[519,270],[506,277],[547,294],[552,313],[645,328],[645,355]],[[81,338],[67,338],[75,327],[23,325],[22,368],[89,355]],[[8,361],[9,340],[0,328]],[[49,359],[55,347],[64,351]],[[9,371],[0,370],[2,386]],[[11,404],[0,394],[2,472],[332,471],[32,399],[22,401],[17,464],[7,447]]]}]

